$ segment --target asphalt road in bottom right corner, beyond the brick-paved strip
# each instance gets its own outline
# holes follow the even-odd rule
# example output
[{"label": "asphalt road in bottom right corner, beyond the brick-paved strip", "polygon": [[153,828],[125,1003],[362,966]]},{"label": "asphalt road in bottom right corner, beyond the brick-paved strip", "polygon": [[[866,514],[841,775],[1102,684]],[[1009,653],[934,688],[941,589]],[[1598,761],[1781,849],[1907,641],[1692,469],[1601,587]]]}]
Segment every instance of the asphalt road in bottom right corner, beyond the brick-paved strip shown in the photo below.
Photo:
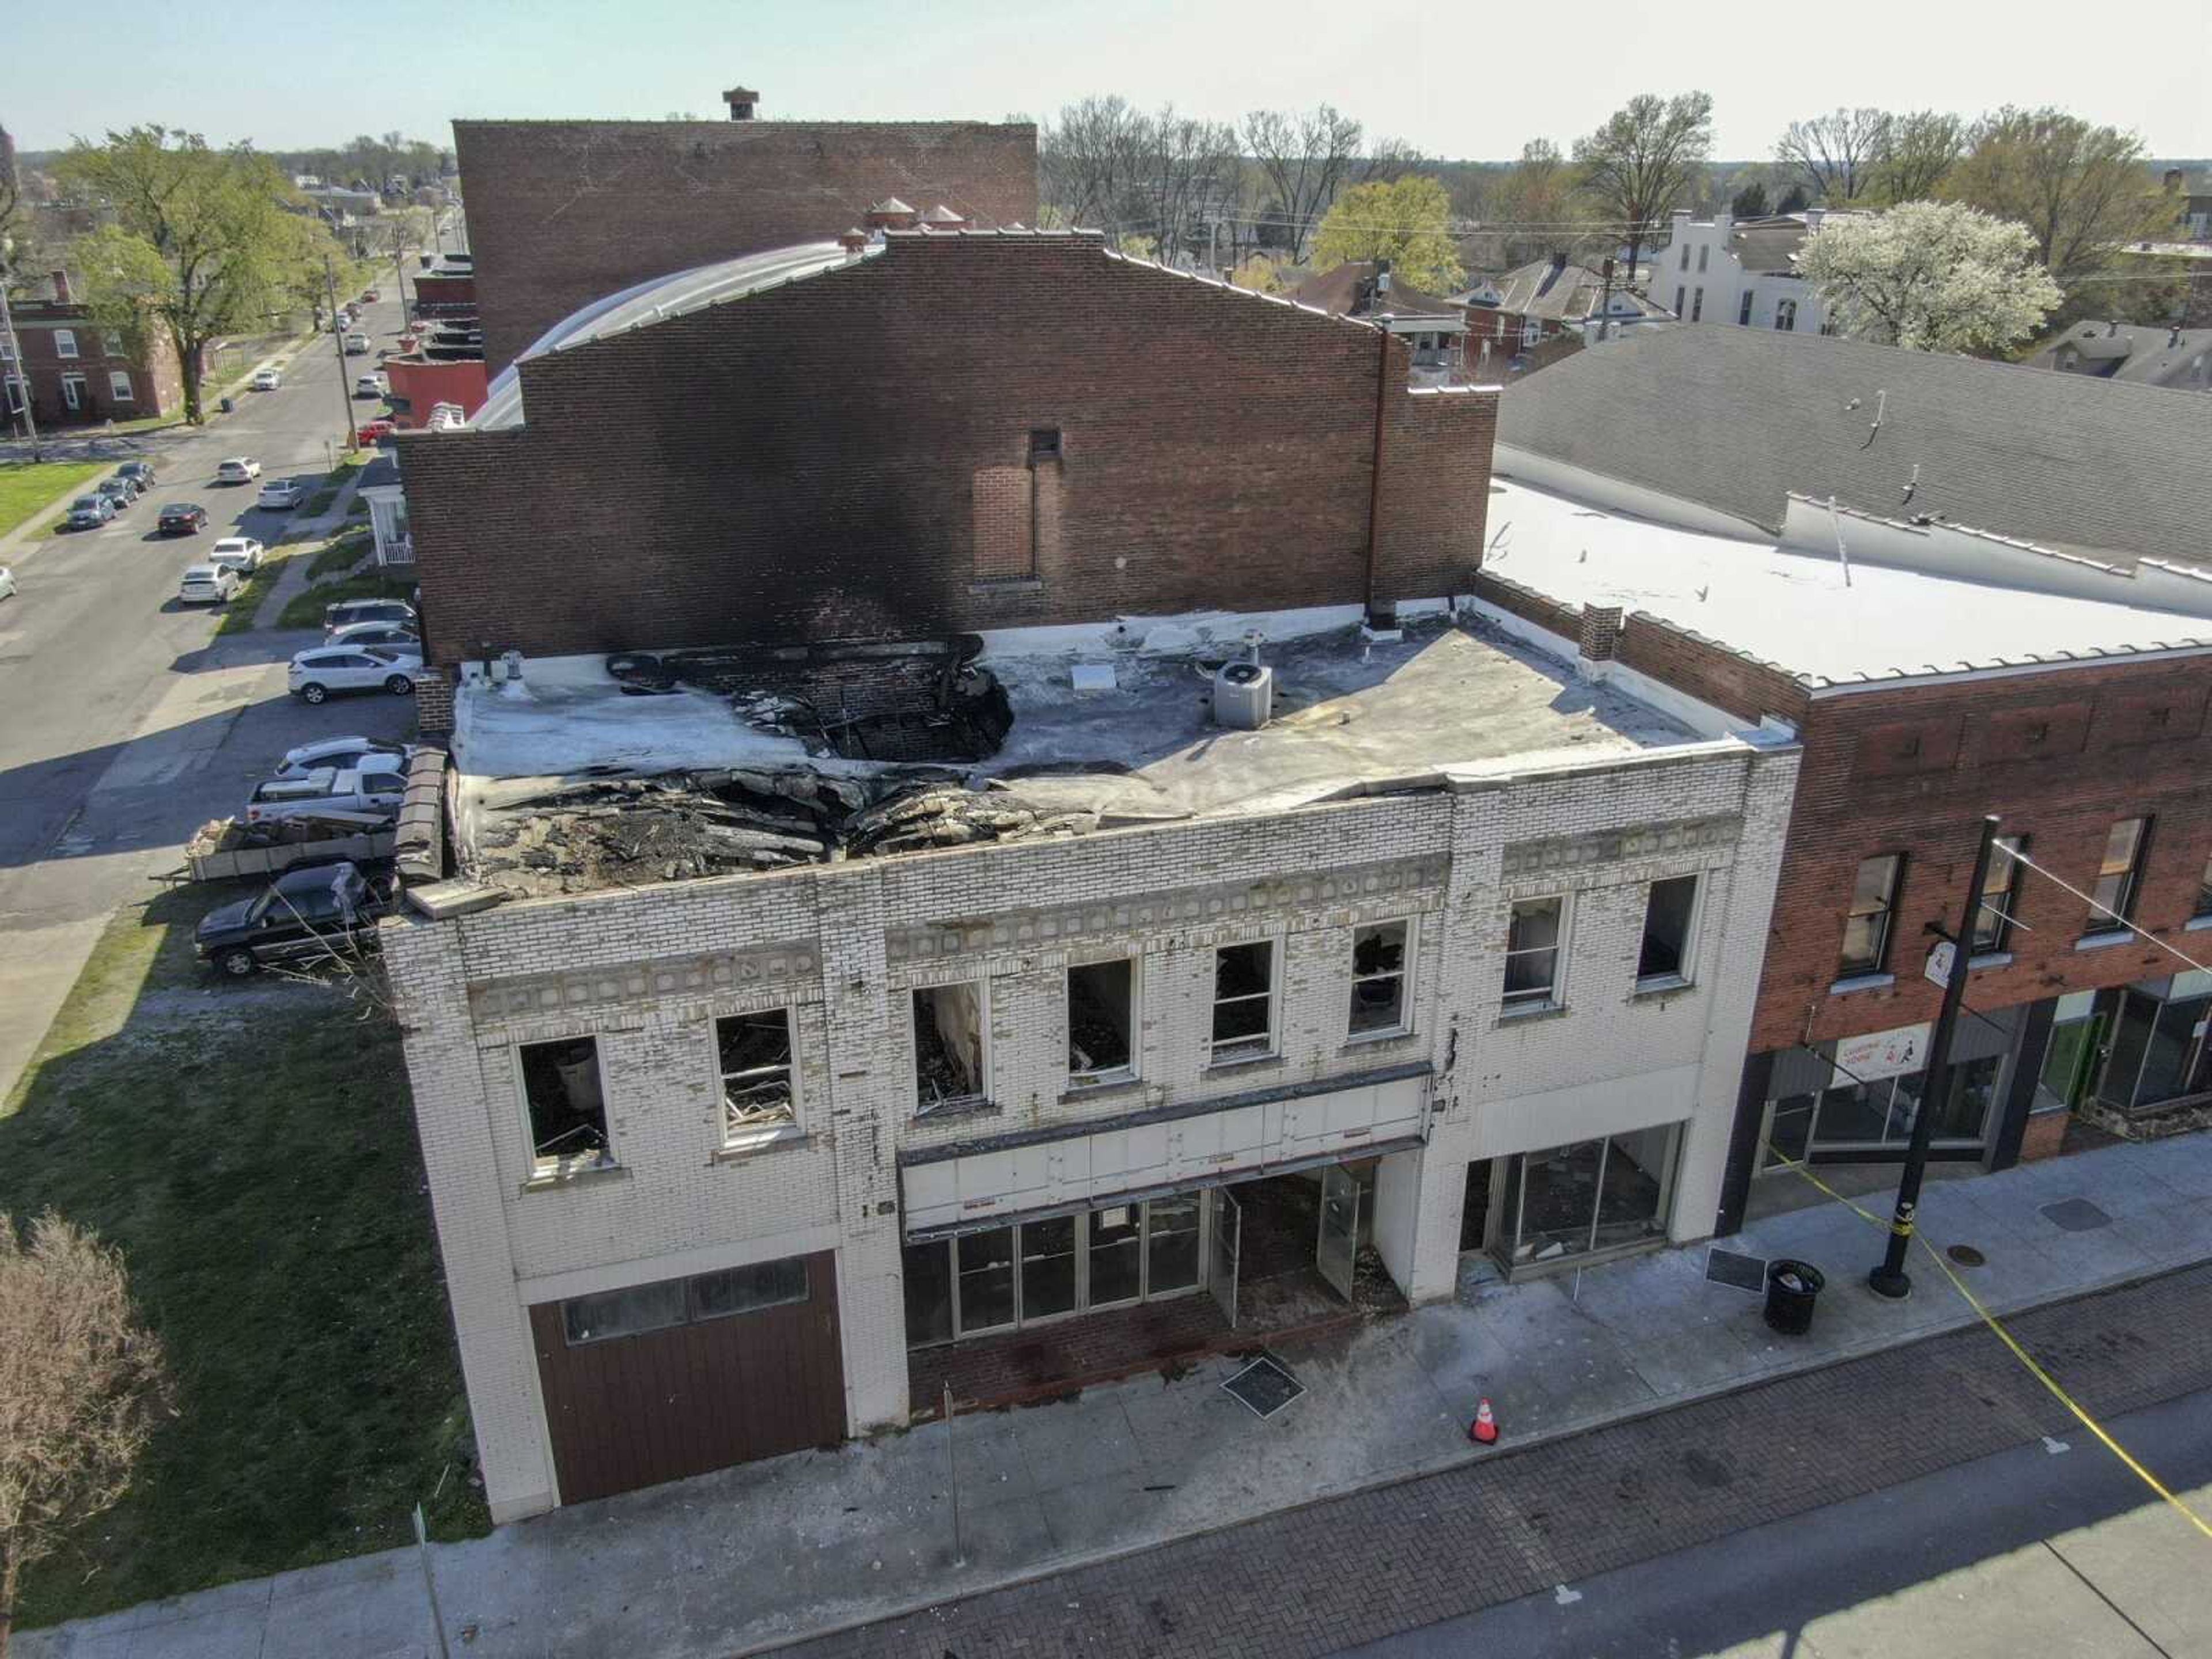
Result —
[{"label": "asphalt road in bottom right corner, beyond the brick-paved strip", "polygon": [[[2106,1427],[2212,1515],[2212,1391]],[[1347,1659],[2183,1659],[2212,1655],[2208,1566],[2212,1542],[2068,1433]]]}]

